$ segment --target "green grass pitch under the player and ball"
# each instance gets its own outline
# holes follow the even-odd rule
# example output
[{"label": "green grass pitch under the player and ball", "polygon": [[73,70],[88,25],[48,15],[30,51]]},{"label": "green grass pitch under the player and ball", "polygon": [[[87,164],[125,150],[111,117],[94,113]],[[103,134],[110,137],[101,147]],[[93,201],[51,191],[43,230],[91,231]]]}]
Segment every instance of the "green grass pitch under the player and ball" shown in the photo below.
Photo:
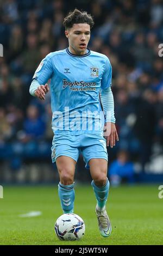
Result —
[{"label": "green grass pitch under the player and ball", "polygon": [[[77,185],[74,213],[85,221],[85,235],[80,241],[59,241],[54,233],[54,222],[62,214],[57,185],[4,186],[0,245],[162,245],[163,199],[158,198],[158,192],[158,185],[110,188],[107,210],[112,233],[103,238],[92,187]],[[42,215],[18,217],[29,211],[41,211]]]}]

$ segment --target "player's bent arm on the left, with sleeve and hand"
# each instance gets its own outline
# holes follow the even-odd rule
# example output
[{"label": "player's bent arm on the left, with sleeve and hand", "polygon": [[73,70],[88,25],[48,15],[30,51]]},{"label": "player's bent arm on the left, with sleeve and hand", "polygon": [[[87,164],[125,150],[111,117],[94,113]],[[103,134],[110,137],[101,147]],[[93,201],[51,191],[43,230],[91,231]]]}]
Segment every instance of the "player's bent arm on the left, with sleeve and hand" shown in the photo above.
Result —
[{"label": "player's bent arm on the left, with sleeve and hand", "polygon": [[51,53],[43,59],[35,71],[33,81],[30,84],[29,93],[32,96],[45,100],[45,95],[48,93],[49,88],[47,81],[53,75],[53,65]]}]

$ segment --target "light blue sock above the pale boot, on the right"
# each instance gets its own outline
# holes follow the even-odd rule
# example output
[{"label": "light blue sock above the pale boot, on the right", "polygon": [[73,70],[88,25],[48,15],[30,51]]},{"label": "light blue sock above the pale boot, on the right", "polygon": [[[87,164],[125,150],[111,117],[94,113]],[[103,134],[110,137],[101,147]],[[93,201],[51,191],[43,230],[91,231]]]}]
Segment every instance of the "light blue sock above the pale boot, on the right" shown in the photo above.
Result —
[{"label": "light blue sock above the pale boot, on the right", "polygon": [[93,190],[95,192],[96,200],[97,200],[97,210],[102,211],[105,208],[106,201],[108,199],[109,193],[109,180],[107,178],[106,184],[102,187],[98,187],[95,185],[95,182],[92,180],[91,183]]}]

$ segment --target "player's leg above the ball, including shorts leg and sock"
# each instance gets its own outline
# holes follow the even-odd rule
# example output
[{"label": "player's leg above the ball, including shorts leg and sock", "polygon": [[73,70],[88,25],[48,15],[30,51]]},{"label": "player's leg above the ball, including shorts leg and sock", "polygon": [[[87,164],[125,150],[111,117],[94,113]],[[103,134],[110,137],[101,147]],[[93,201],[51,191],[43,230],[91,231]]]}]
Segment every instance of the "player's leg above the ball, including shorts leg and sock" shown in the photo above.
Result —
[{"label": "player's leg above the ball, including shorts leg and sock", "polygon": [[56,162],[60,182],[59,198],[64,213],[73,212],[74,172],[79,157],[78,142],[75,136],[55,135],[52,146],[52,162]]}]

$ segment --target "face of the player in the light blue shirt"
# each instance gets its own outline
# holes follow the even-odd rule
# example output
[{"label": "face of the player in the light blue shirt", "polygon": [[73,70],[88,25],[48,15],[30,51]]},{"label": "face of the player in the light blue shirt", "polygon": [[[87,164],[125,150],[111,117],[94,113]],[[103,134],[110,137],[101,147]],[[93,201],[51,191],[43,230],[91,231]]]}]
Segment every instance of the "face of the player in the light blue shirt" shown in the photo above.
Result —
[{"label": "face of the player in the light blue shirt", "polygon": [[73,54],[83,55],[90,40],[90,25],[87,23],[74,24],[72,28],[65,31],[68,38],[70,51]]}]

